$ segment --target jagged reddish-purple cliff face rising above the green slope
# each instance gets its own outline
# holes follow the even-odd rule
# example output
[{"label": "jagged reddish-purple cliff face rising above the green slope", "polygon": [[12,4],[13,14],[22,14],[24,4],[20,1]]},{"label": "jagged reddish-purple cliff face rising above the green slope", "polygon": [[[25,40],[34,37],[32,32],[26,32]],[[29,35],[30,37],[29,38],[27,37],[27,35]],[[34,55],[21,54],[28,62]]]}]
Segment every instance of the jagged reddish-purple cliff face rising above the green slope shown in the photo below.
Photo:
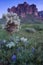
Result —
[{"label": "jagged reddish-purple cliff face rising above the green slope", "polygon": [[35,4],[29,5],[27,2],[18,4],[17,7],[13,6],[8,8],[8,12],[17,13],[21,17],[26,17],[27,14],[38,16],[38,10]]}]

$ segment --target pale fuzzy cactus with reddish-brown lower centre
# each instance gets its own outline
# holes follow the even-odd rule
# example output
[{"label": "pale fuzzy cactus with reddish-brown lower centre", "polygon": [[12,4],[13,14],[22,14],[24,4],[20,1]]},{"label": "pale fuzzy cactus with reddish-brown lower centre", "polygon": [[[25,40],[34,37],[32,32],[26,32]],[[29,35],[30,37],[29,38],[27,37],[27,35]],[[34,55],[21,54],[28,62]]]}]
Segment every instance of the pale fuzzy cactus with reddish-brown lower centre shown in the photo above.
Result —
[{"label": "pale fuzzy cactus with reddish-brown lower centre", "polygon": [[6,25],[5,28],[9,32],[18,32],[20,28],[20,19],[19,16],[16,13],[7,13],[4,15],[6,18]]}]

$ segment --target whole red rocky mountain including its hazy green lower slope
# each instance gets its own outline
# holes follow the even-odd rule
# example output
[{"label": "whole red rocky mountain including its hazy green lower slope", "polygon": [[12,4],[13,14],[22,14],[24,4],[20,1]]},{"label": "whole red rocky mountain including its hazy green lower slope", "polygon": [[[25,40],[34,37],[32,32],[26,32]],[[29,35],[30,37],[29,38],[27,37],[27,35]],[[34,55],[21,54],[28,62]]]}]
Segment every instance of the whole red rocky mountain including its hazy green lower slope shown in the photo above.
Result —
[{"label": "whole red rocky mountain including its hazy green lower slope", "polygon": [[12,6],[8,12],[17,13],[21,18],[21,23],[43,23],[43,17],[35,4],[29,5],[27,2]]}]

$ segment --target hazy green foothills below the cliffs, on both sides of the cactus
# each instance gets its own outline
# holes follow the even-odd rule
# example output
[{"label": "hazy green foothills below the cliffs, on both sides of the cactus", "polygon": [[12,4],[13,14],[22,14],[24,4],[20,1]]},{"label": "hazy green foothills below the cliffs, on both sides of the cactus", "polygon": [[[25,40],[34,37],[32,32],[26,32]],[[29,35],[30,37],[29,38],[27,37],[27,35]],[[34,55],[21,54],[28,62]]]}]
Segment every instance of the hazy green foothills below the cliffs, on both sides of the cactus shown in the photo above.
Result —
[{"label": "hazy green foothills below the cliffs, on both sides of the cactus", "polygon": [[[25,18],[20,17],[21,24],[40,24],[43,23],[43,20],[41,20],[38,17],[35,17],[34,15],[27,15]],[[2,18],[0,19],[0,24],[5,24],[6,19]]]}]

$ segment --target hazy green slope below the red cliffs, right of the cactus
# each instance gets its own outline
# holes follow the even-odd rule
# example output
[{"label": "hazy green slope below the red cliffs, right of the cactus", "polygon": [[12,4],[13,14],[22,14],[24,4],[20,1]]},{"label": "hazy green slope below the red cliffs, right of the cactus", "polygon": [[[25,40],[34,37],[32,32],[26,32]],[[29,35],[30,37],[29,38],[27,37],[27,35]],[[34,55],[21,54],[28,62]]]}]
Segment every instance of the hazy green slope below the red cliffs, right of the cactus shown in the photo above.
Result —
[{"label": "hazy green slope below the red cliffs, right of the cactus", "polygon": [[21,23],[30,23],[30,24],[38,24],[43,23],[43,20],[33,16],[33,15],[27,15],[25,18],[21,18]]}]

